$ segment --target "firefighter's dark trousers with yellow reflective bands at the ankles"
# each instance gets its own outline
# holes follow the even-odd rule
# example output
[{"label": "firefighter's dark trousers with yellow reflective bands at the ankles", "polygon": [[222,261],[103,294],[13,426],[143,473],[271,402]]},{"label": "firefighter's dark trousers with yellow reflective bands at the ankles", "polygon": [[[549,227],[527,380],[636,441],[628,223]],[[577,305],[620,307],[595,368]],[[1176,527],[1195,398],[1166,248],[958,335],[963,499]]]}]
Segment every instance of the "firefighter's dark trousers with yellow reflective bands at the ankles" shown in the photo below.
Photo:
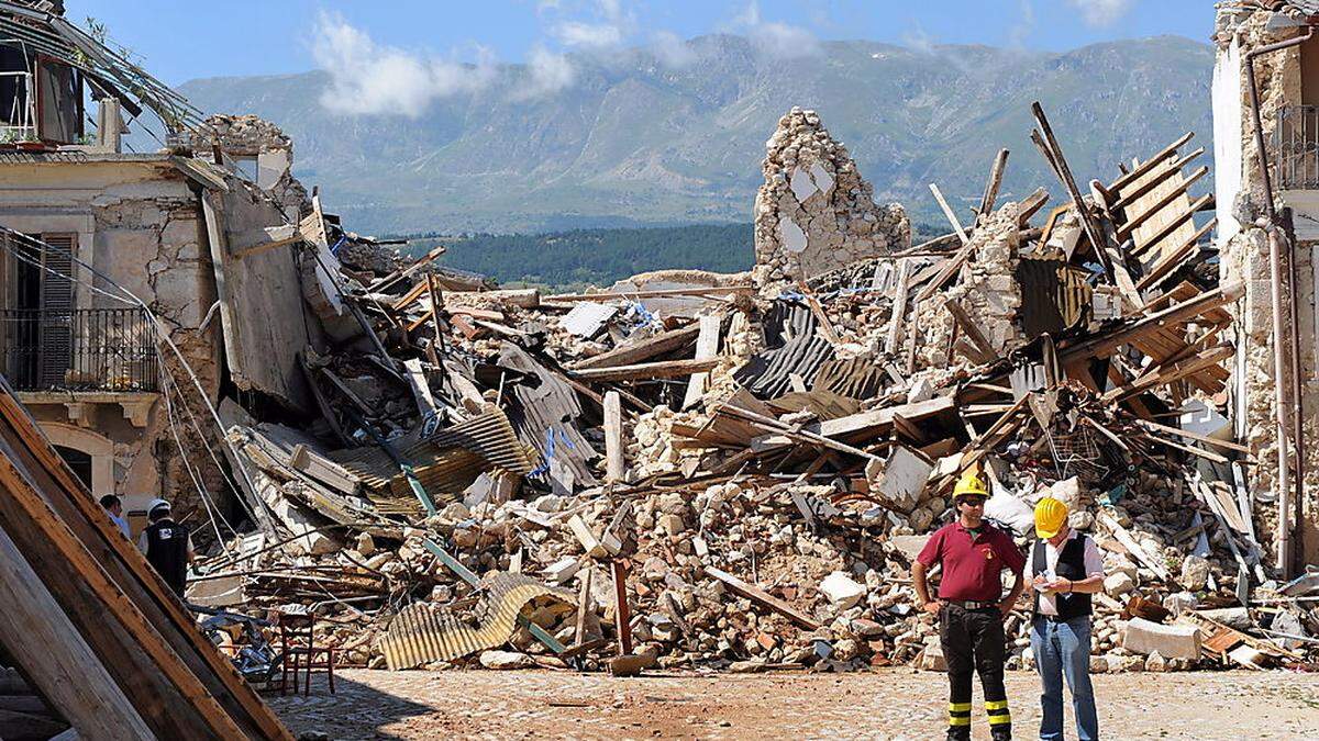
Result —
[{"label": "firefighter's dark trousers with yellow reflective bands at the ankles", "polygon": [[971,738],[971,674],[980,674],[989,732],[997,741],[1012,738],[1012,713],[1002,686],[1005,641],[998,608],[968,610],[944,605],[939,639],[948,665],[948,738]]}]

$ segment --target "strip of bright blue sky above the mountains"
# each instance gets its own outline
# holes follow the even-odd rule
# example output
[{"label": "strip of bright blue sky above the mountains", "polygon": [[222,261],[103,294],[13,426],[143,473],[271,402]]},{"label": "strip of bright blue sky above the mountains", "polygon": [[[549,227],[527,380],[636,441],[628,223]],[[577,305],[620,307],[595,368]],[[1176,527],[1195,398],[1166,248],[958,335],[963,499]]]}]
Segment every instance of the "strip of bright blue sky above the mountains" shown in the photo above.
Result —
[{"label": "strip of bright blue sky above the mountains", "polygon": [[[704,33],[801,47],[865,38],[1067,50],[1178,34],[1207,41],[1211,0],[66,0],[170,84],[299,73],[340,45],[371,59],[562,63],[568,51],[677,49]],[[328,32],[328,33],[327,33]],[[327,42],[326,40],[334,40]],[[392,55],[392,57],[390,57]],[[563,71],[562,67],[558,71]],[[427,73],[433,74],[433,73]]]}]

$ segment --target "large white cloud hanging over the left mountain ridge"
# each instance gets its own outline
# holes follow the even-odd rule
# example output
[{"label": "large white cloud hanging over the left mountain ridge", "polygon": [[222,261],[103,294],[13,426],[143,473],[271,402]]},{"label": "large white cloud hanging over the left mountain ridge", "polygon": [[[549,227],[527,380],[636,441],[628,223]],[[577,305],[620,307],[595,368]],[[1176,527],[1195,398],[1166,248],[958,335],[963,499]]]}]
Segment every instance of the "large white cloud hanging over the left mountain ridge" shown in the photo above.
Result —
[{"label": "large white cloud hanging over the left mountain ridge", "polygon": [[480,90],[495,75],[493,58],[477,47],[464,65],[379,45],[338,13],[317,17],[313,58],[330,74],[321,105],[336,113],[421,116],[437,99]]}]

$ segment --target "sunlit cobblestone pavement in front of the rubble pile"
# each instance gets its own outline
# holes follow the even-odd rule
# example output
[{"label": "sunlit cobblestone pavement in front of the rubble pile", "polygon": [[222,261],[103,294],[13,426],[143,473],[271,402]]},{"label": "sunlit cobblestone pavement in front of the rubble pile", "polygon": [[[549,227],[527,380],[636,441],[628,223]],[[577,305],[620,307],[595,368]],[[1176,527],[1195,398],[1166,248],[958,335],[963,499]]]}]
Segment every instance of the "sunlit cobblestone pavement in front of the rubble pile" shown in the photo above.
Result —
[{"label": "sunlit cobblestone pavement in front of the rubble pile", "polygon": [[[331,738],[942,738],[942,674],[700,675],[636,679],[550,671],[318,675],[310,697],[273,697],[294,733]],[[1038,730],[1038,683],[1009,672],[1018,738]],[[1095,676],[1107,738],[1315,738],[1319,675]],[[1074,738],[1071,708],[1067,736]],[[976,738],[988,726],[976,690]]]}]

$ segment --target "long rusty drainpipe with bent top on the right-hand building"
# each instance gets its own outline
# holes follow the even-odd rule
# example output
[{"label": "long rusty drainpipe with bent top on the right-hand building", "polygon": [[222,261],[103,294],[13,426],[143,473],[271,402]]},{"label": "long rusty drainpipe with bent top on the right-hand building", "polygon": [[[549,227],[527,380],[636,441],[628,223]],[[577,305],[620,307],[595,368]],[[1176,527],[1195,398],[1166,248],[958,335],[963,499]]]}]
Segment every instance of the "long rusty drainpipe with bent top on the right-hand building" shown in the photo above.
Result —
[{"label": "long rusty drainpipe with bent top on the right-hand building", "polygon": [[[1287,361],[1283,345],[1283,312],[1282,312],[1282,247],[1278,244],[1278,207],[1273,196],[1273,181],[1269,175],[1269,152],[1264,142],[1264,120],[1260,115],[1260,88],[1256,84],[1254,59],[1265,54],[1299,46],[1310,41],[1315,34],[1315,26],[1306,26],[1306,32],[1295,38],[1269,44],[1245,54],[1246,86],[1250,92],[1250,117],[1254,124],[1256,160],[1260,166],[1260,177],[1264,181],[1264,203],[1269,215],[1269,283],[1273,293],[1273,369],[1274,369],[1274,415],[1278,426],[1278,570],[1283,578],[1291,575],[1291,460],[1287,450],[1287,396],[1289,388],[1286,376]],[[1290,241],[1289,241],[1290,247]],[[1291,249],[1295,257],[1294,248]],[[1291,294],[1295,294],[1295,282],[1291,282]],[[1293,327],[1293,334],[1295,328]],[[1299,414],[1295,415],[1299,426]],[[1298,450],[1298,458],[1301,451]],[[1299,483],[1299,481],[1298,481]]]}]

